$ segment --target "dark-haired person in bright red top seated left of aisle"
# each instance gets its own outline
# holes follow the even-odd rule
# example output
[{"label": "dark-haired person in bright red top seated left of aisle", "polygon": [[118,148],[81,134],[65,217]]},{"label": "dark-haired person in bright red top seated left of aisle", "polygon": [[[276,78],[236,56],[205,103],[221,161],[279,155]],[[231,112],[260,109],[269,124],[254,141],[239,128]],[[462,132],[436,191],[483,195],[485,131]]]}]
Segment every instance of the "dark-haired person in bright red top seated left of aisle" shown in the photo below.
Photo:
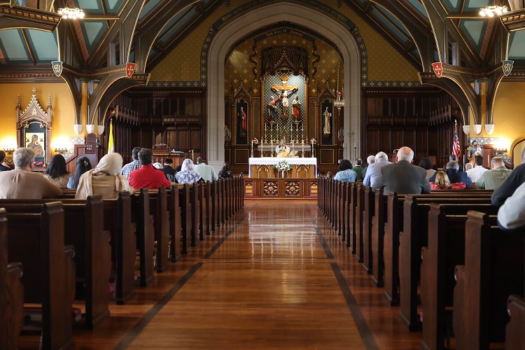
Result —
[{"label": "dark-haired person in bright red top seated left of aisle", "polygon": [[130,186],[139,190],[140,188],[148,188],[148,190],[157,190],[159,187],[170,188],[172,183],[166,179],[164,172],[153,167],[153,152],[148,148],[142,148],[139,152],[139,162],[141,168],[134,170],[130,174]]}]

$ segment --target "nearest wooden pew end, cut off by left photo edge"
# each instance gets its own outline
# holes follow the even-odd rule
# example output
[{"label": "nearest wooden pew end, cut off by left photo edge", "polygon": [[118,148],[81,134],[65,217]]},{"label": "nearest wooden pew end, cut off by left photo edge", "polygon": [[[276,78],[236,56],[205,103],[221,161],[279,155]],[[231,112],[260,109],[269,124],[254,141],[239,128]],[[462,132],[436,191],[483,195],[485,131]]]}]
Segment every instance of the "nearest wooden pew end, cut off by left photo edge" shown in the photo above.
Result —
[{"label": "nearest wooden pew end, cut off by left photo edge", "polygon": [[18,349],[24,318],[22,264],[8,263],[6,210],[0,209],[0,349]]}]

